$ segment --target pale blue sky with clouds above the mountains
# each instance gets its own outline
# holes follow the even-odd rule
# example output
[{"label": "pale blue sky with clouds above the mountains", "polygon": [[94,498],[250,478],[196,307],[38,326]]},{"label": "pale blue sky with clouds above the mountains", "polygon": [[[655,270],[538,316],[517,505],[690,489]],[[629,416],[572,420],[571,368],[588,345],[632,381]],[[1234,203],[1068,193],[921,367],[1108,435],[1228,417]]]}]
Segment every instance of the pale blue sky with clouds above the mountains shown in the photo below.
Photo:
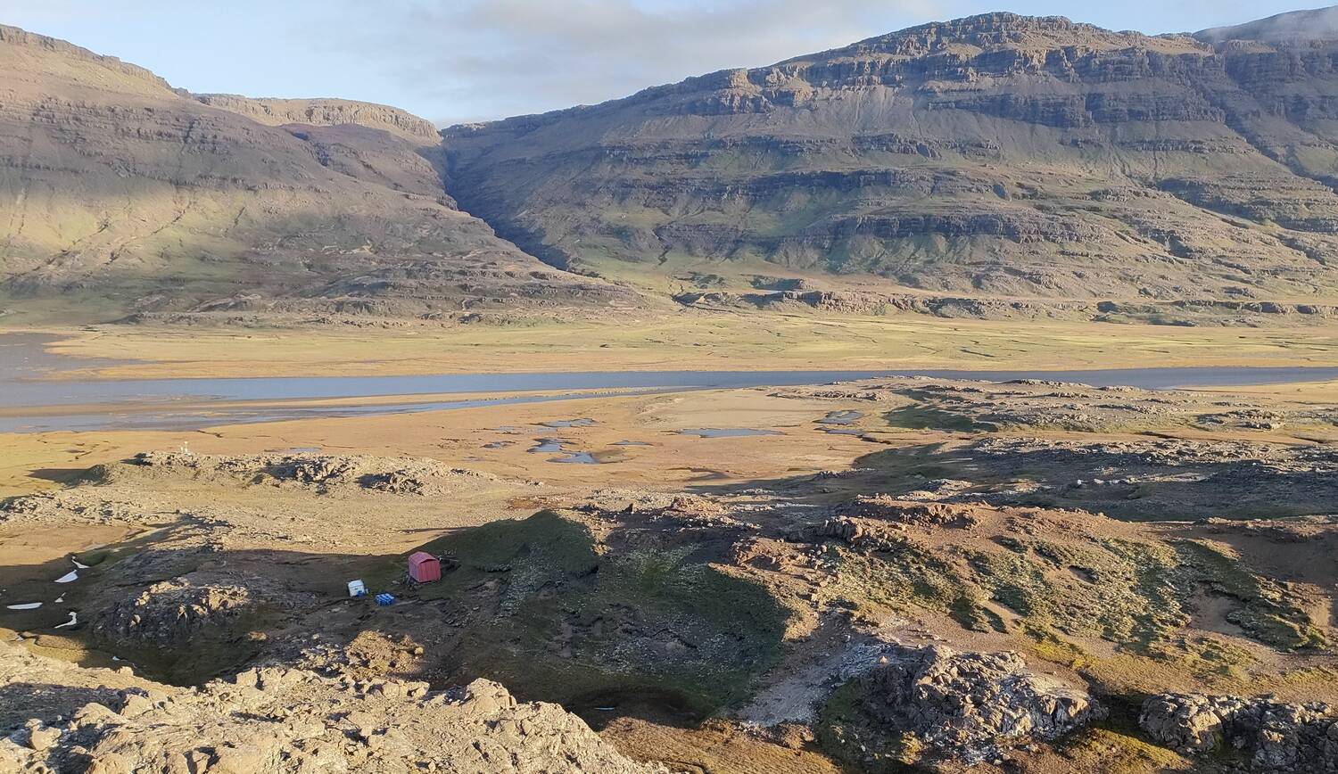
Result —
[{"label": "pale blue sky with clouds above the mountains", "polygon": [[987,11],[1187,32],[1276,0],[0,0],[0,23],[194,92],[336,96],[439,126],[593,104]]}]

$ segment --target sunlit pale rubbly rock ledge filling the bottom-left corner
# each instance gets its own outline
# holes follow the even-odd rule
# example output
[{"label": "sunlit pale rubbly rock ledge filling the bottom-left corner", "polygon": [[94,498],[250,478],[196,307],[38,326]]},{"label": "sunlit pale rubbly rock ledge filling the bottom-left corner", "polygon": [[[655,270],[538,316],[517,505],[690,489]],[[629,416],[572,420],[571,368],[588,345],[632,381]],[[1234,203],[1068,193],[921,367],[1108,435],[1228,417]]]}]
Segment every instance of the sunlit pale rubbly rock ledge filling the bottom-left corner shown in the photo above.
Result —
[{"label": "sunlit pale rubbly rock ledge filling the bottom-left corner", "polygon": [[[523,703],[487,680],[427,683],[254,668],[201,688],[82,670],[0,646],[0,683],[35,671],[50,688],[98,675],[131,684],[45,691],[0,739],[8,771],[653,771],[624,758],[557,704]],[[104,678],[103,678],[104,679]],[[72,702],[87,702],[80,704]]]}]

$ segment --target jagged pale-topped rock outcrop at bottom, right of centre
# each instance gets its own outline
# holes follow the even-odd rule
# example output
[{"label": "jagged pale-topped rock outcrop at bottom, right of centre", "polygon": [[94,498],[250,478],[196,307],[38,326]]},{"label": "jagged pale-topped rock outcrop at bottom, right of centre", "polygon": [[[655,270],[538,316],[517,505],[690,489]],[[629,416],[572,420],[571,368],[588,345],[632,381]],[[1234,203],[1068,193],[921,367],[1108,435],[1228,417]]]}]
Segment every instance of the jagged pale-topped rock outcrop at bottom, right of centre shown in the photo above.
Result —
[{"label": "jagged pale-topped rock outcrop at bottom, right of centre", "polygon": [[969,763],[1001,742],[1056,739],[1105,714],[1085,687],[1030,672],[1014,652],[899,648],[860,682],[868,715]]}]

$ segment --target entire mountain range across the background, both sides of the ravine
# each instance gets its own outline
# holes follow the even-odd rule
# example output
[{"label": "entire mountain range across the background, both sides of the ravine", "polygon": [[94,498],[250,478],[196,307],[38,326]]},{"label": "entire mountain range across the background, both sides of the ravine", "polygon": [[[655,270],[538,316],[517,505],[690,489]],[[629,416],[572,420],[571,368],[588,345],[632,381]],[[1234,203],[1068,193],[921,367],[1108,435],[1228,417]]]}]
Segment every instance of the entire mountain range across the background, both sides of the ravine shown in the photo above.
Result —
[{"label": "entire mountain range across the background, both sides of the ravine", "polygon": [[1333,309],[1338,43],[1236,35],[983,13],[438,131],[3,27],[0,306]]}]

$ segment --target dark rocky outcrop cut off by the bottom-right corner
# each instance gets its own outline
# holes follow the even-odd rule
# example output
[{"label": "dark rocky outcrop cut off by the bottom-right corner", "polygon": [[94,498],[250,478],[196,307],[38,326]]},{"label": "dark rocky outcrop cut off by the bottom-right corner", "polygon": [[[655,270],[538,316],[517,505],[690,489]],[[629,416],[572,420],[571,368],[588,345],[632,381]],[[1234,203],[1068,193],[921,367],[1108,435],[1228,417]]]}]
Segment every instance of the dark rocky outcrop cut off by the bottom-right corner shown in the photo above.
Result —
[{"label": "dark rocky outcrop cut off by the bottom-right corner", "polygon": [[1322,702],[1160,694],[1144,702],[1139,725],[1181,753],[1239,751],[1254,771],[1338,771],[1338,707]]}]

